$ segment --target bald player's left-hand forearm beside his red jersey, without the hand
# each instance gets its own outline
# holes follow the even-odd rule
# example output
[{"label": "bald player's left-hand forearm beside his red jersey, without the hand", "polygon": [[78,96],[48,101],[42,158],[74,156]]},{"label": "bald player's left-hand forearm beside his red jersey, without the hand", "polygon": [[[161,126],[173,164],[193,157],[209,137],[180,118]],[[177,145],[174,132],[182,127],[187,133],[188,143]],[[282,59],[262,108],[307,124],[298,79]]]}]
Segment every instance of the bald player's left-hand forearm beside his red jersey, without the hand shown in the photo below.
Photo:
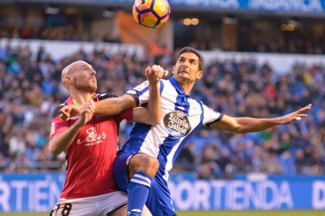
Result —
[{"label": "bald player's left-hand forearm beside his red jersey, without the hand", "polygon": [[50,152],[54,155],[58,155],[67,149],[71,145],[81,127],[82,124],[80,121],[77,121],[62,134],[54,136],[49,143]]}]

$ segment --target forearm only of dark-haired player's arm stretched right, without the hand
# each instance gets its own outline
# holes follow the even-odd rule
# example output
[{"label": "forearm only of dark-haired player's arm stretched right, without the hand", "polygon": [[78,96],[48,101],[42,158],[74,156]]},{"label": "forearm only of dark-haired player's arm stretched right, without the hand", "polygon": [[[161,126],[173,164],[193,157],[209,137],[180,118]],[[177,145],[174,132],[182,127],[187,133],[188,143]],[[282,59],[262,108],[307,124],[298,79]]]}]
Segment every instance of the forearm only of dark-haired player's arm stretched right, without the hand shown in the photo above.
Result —
[{"label": "forearm only of dark-haired player's arm stretched right, without the hand", "polygon": [[259,132],[280,124],[277,118],[255,119],[250,117],[240,117],[234,119],[238,123],[238,127],[233,131],[235,133]]}]

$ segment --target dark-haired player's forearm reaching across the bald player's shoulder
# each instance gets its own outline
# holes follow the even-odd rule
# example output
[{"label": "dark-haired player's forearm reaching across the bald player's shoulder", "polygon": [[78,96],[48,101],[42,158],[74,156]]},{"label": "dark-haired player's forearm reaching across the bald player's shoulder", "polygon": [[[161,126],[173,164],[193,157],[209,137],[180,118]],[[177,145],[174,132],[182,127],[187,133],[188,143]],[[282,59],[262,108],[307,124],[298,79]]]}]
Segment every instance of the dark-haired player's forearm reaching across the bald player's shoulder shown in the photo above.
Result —
[{"label": "dark-haired player's forearm reaching across the bald player's shoulder", "polygon": [[100,100],[95,106],[96,116],[112,116],[136,106],[134,99],[124,94],[122,97],[112,97]]}]

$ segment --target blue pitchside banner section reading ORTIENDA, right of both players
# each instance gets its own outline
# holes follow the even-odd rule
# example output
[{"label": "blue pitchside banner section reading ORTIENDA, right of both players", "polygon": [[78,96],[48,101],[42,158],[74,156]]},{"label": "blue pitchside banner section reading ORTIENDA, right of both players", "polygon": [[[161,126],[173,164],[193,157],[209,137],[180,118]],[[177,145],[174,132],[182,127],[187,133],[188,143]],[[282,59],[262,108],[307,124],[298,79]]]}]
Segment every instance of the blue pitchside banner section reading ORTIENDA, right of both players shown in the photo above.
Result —
[{"label": "blue pitchside banner section reading ORTIENDA, right of both players", "polygon": [[257,176],[207,181],[172,175],[168,185],[175,209],[184,211],[325,209],[325,176]]}]

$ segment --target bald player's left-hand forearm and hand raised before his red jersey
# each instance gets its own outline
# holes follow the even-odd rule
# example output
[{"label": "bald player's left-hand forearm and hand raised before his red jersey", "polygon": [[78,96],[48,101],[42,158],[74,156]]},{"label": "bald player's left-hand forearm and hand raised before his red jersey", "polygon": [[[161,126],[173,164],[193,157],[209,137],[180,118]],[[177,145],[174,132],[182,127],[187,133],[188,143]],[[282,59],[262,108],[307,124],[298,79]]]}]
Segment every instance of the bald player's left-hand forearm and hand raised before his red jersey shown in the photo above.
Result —
[{"label": "bald player's left-hand forearm and hand raised before his red jersey", "polygon": [[94,114],[94,110],[95,102],[93,100],[86,103],[82,107],[80,118],[70,127],[68,127],[64,132],[55,135],[50,139],[50,152],[54,155],[58,155],[62,153],[65,149],[67,149],[71,145],[78,132],[80,131],[80,128],[85,125],[89,120],[91,120]]}]

